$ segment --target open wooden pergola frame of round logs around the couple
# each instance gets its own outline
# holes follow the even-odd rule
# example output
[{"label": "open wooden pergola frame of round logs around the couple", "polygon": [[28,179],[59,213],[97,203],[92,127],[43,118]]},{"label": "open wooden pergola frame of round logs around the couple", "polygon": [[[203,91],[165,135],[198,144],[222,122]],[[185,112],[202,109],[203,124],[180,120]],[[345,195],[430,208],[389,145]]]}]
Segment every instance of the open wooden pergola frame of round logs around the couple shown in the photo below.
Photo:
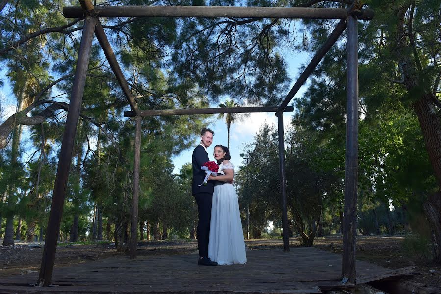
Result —
[{"label": "open wooden pergola frame of round logs around the couple", "polygon": [[[51,212],[49,216],[46,242],[37,284],[49,286],[55,261],[58,234],[66,193],[68,175],[72,160],[72,150],[81,109],[82,96],[93,34],[98,39],[101,48],[120,84],[131,111],[124,112],[126,117],[136,117],[135,120],[135,152],[133,167],[133,201],[131,213],[130,258],[136,257],[137,219],[139,194],[139,164],[141,153],[141,118],[143,116],[164,115],[195,115],[215,113],[251,113],[275,112],[278,118],[279,134],[279,171],[280,189],[282,193],[282,223],[284,251],[289,251],[289,229],[286,200],[285,178],[285,144],[283,129],[283,112],[293,111],[287,106],[309,75],[322,60],[328,50],[347,29],[347,128],[346,128],[346,176],[345,176],[345,208],[343,228],[343,262],[342,283],[355,283],[355,243],[356,243],[356,203],[357,203],[357,168],[358,168],[358,34],[357,20],[373,18],[372,10],[362,10],[362,4],[355,0],[349,9],[340,8],[287,8],[287,7],[230,7],[230,6],[97,6],[90,0],[79,0],[81,7],[64,7],[66,18],[84,17],[84,26],[78,52],[77,67],[72,86],[69,110],[66,119],[63,141],[61,144],[58,169],[53,188]],[[257,17],[257,18],[309,18],[309,19],[340,19],[328,40],[317,51],[309,65],[300,75],[286,98],[278,107],[236,107],[236,108],[206,108],[206,109],[163,109],[140,110],[130,91],[129,85],[121,71],[113,53],[100,17]]]}]

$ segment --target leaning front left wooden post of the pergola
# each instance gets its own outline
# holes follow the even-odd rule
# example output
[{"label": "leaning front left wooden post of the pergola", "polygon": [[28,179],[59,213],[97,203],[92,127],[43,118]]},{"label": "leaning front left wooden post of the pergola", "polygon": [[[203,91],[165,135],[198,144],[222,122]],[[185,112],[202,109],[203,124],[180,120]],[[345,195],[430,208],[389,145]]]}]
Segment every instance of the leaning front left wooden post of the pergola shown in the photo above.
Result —
[{"label": "leaning front left wooden post of the pergola", "polygon": [[51,212],[46,230],[46,242],[43,249],[38,285],[49,286],[52,280],[55,252],[60,232],[61,216],[63,214],[64,196],[66,193],[69,169],[72,160],[72,150],[75,143],[75,133],[81,102],[86,82],[87,67],[89,65],[90,49],[92,46],[93,31],[96,19],[86,16],[84,19],[81,44],[78,51],[77,68],[75,70],[74,83],[72,85],[69,111],[67,113],[66,126],[64,128],[63,142],[61,143],[60,158],[53,188]]}]

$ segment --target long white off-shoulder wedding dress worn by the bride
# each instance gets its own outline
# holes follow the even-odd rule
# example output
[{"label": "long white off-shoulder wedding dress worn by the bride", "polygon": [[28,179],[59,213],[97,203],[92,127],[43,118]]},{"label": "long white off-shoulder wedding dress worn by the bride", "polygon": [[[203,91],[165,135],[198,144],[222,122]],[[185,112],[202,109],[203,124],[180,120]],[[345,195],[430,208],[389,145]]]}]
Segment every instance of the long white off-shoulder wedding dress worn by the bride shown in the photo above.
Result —
[{"label": "long white off-shoulder wedding dress worn by the bride", "polygon": [[[222,170],[226,169],[234,170],[234,165],[231,162],[220,164],[218,173],[224,174]],[[247,262],[239,201],[232,184],[225,183],[214,187],[208,257],[219,265]]]}]

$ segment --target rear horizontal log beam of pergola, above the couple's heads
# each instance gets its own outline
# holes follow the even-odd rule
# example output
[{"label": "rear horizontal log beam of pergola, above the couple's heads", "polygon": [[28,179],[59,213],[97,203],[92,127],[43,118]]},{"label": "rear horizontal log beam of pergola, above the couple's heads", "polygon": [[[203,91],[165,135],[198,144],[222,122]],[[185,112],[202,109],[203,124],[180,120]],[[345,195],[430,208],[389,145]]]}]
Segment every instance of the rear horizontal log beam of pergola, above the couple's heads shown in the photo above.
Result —
[{"label": "rear horizontal log beam of pergola, above the couple's heads", "polygon": [[[251,112],[276,112],[278,107],[232,107],[232,108],[193,108],[193,109],[160,109],[141,110],[140,116],[163,116],[163,115],[189,115],[189,114],[215,114],[215,113],[251,113]],[[285,112],[294,111],[294,107],[288,106]],[[134,117],[133,111],[125,111],[125,117]]]}]

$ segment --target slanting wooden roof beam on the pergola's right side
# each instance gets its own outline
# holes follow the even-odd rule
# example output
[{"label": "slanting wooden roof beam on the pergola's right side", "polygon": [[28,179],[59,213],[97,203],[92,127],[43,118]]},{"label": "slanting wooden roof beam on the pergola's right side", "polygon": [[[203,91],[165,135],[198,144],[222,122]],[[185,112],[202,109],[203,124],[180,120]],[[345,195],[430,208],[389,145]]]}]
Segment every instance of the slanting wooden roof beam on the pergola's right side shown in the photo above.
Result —
[{"label": "slanting wooden roof beam on the pergola's right side", "polygon": [[280,104],[279,106],[280,111],[284,110],[286,105],[288,105],[289,102],[291,102],[292,98],[294,98],[294,96],[297,94],[300,87],[302,87],[302,85],[306,82],[308,77],[315,70],[315,68],[323,59],[323,57],[326,55],[326,53],[329,51],[329,49],[331,49],[331,47],[337,42],[337,39],[341,36],[341,34],[343,34],[345,29],[346,29],[346,21],[341,20],[334,28],[332,33],[329,35],[328,40],[326,40],[325,44],[323,44],[323,46],[317,51],[317,53],[315,53],[314,57],[311,59],[311,62],[305,68],[303,73],[300,74],[294,86],[292,86],[291,90],[286,95],[286,98]]}]

